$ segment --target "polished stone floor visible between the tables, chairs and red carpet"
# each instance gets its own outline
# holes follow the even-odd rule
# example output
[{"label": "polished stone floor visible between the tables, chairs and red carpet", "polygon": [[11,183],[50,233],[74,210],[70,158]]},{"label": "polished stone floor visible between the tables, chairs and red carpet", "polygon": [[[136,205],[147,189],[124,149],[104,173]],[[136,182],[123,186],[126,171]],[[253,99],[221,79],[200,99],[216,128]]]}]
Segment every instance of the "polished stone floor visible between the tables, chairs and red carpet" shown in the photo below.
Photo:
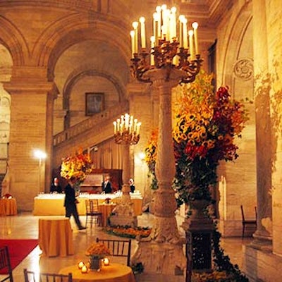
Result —
[{"label": "polished stone floor visible between the tables, chairs and red carpet", "polygon": [[[38,238],[38,219],[42,216],[32,216],[30,213],[21,213],[18,216],[0,216],[0,238],[6,239],[34,239]],[[80,216],[81,221],[85,222],[85,216]],[[181,219],[178,218],[180,224]],[[153,216],[149,213],[143,213],[142,216],[138,216],[139,226],[152,226]],[[73,240],[75,245],[75,255],[68,257],[41,257],[41,250],[37,246],[30,255],[28,255],[23,262],[21,262],[16,269],[13,270],[14,282],[23,282],[23,269],[27,268],[33,271],[54,271],[58,272],[59,269],[68,266],[70,264],[76,264],[80,259],[85,257],[85,247],[89,245],[95,238],[117,238],[114,235],[104,233],[102,228],[93,226],[86,230],[78,231],[73,219],[71,219],[71,225],[73,228]],[[180,233],[181,228],[179,229]],[[223,238],[221,240],[221,247],[226,251],[226,255],[231,257],[233,264],[242,265],[242,244],[250,243],[251,239],[241,238]],[[136,240],[133,240],[133,252],[136,247]],[[123,259],[123,258],[121,258]],[[118,262],[118,261],[117,261]],[[184,282],[184,276],[161,276],[138,274],[136,276],[137,282]]]}]

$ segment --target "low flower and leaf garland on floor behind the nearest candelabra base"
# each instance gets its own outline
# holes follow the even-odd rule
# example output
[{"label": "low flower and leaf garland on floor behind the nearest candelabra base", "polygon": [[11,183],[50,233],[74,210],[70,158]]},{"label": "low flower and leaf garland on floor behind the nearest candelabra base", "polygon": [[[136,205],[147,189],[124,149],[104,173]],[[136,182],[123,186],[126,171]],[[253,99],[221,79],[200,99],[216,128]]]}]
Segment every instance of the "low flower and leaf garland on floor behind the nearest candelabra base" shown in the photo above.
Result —
[{"label": "low flower and leaf garland on floor behind the nearest candelabra base", "polygon": [[151,234],[152,228],[140,226],[106,226],[105,231],[106,233],[126,238],[136,238],[138,236],[145,238]]}]

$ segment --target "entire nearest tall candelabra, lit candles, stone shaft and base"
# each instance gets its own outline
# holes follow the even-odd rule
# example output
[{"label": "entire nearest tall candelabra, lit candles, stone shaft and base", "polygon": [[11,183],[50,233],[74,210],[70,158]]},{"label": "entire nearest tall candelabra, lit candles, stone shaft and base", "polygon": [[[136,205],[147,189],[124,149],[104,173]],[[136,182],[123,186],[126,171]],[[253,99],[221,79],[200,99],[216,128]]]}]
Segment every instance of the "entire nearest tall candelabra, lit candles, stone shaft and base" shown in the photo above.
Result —
[{"label": "entire nearest tall candelabra, lit candles, stone shaft and base", "polygon": [[[187,28],[185,16],[176,18],[176,8],[158,6],[153,16],[153,36],[147,51],[145,18],[134,22],[130,32],[133,76],[150,82],[159,91],[159,135],[157,141],[156,176],[158,189],[154,197],[154,226],[151,240],[138,245],[132,263],[142,262],[145,271],[174,275],[176,268],[185,269],[187,260],[175,217],[176,199],[171,188],[175,176],[172,142],[171,90],[179,83],[190,83],[200,71],[202,59],[198,50],[197,23]],[[138,44],[138,39],[141,44]],[[156,257],[159,256],[159,257]],[[154,260],[149,260],[154,257]],[[173,257],[171,262],[170,257]],[[161,262],[155,264],[154,262]],[[186,277],[189,281],[190,277]]]}]

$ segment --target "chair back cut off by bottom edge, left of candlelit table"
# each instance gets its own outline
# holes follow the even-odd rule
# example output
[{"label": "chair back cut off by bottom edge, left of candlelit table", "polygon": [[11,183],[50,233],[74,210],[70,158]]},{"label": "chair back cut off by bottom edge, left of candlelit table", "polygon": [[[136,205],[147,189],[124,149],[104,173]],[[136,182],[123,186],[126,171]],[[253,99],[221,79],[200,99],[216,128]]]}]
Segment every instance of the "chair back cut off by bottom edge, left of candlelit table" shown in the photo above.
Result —
[{"label": "chair back cut off by bottom edge, left of candlelit table", "polygon": [[23,269],[25,282],[73,282],[73,275],[71,273],[64,274],[49,274],[49,273],[35,273]]}]

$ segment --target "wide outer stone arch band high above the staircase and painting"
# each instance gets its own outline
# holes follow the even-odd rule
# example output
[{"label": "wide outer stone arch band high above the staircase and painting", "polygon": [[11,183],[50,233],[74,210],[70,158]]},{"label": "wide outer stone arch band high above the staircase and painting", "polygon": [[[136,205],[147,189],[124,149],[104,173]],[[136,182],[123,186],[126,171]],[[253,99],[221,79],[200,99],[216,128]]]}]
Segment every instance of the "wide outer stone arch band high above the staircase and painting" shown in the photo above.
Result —
[{"label": "wide outer stone arch band high above the staircase and painting", "polygon": [[[85,40],[103,41],[114,45],[121,56],[130,63],[130,39],[126,25],[117,23],[94,13],[95,18],[87,18],[84,14],[71,14],[53,23],[37,41],[32,54],[37,66],[48,66],[49,80],[54,78],[54,67],[63,51],[73,44]],[[106,17],[106,16],[104,16]],[[129,65],[128,65],[129,66]]]}]

